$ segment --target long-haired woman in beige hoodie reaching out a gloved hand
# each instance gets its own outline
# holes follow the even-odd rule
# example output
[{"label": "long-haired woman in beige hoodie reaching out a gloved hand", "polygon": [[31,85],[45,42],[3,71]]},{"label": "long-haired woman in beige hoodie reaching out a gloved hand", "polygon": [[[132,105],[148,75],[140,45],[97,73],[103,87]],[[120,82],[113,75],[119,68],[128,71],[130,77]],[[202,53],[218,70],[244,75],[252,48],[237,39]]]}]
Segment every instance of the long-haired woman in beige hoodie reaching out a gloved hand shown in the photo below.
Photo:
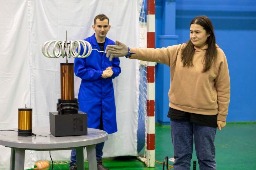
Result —
[{"label": "long-haired woman in beige hoodie reaching out a gloved hand", "polygon": [[200,170],[215,170],[216,129],[226,125],[230,101],[228,63],[215,42],[213,25],[207,16],[190,23],[186,44],[161,49],[129,48],[116,41],[106,47],[107,57],[158,62],[170,67],[168,117],[174,145],[174,169],[190,169],[193,142]]}]

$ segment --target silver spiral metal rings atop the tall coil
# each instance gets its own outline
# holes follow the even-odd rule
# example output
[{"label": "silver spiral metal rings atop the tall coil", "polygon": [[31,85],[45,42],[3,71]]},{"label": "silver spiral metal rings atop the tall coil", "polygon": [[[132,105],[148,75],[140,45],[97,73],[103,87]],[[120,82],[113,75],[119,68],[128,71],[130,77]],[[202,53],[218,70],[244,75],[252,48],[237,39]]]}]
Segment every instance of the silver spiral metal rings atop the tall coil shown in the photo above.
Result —
[{"label": "silver spiral metal rings atop the tall coil", "polygon": [[[50,53],[50,47],[53,45],[53,55]],[[81,45],[84,48],[84,52],[80,55]],[[87,48],[88,51],[87,51]],[[87,51],[87,53],[86,53]],[[79,41],[46,41],[42,46],[42,53],[48,58],[59,58],[74,57],[74,58],[85,58],[90,56],[92,51],[91,44],[84,40]]]}]

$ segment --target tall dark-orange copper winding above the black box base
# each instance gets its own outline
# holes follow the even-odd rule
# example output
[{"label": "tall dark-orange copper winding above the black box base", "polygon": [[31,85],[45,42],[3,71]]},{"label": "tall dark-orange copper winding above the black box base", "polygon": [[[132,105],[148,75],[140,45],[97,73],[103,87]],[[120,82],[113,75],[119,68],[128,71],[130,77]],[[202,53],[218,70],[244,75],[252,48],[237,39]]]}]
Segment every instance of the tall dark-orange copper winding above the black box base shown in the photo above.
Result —
[{"label": "tall dark-orange copper winding above the black box base", "polygon": [[60,63],[60,91],[61,100],[73,100],[74,90],[74,63]]}]

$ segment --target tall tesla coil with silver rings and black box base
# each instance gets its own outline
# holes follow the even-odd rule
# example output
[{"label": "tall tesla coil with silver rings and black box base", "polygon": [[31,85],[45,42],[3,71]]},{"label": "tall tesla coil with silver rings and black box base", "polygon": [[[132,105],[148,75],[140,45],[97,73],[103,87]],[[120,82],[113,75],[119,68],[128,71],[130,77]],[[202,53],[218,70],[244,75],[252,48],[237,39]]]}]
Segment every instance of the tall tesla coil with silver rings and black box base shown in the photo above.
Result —
[{"label": "tall tesla coil with silver rings and black box base", "polygon": [[[82,55],[81,45],[85,49]],[[53,50],[53,55],[50,54],[50,49]],[[46,41],[42,46],[42,53],[48,58],[66,57],[66,63],[60,63],[61,97],[57,102],[57,111],[49,113],[50,132],[54,136],[87,135],[87,114],[79,111],[78,99],[74,94],[74,63],[68,63],[68,58],[88,57],[91,54],[90,43],[84,40]]]}]

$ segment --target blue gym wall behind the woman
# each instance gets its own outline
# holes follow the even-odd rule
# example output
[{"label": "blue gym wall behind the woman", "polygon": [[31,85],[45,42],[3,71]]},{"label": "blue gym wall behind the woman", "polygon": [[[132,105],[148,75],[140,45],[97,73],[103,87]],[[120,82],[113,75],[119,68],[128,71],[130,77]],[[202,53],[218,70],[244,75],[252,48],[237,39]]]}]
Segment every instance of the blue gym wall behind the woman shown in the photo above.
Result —
[{"label": "blue gym wall behind the woman", "polygon": [[[229,65],[231,98],[227,121],[256,121],[256,1],[156,0],[156,47],[189,39],[191,20],[208,16]],[[156,122],[169,124],[169,67],[156,65]]]}]

